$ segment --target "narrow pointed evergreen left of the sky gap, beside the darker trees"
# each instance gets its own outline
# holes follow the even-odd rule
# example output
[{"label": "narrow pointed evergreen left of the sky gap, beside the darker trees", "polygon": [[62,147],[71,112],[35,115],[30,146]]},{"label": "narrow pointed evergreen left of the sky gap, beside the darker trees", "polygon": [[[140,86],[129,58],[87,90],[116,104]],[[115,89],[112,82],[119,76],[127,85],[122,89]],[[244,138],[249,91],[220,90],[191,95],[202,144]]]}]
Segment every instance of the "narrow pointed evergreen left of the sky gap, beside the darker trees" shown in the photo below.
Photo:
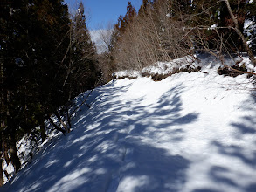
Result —
[{"label": "narrow pointed evergreen left of the sky gap, beside the darker trees", "polygon": [[[69,58],[71,67],[67,76],[69,77],[69,84],[73,87],[71,97],[74,97],[87,89],[94,88],[98,76],[96,48],[86,26],[83,3],[79,5],[72,27],[71,40],[73,44],[71,45]],[[68,78],[67,76],[66,78]]]}]

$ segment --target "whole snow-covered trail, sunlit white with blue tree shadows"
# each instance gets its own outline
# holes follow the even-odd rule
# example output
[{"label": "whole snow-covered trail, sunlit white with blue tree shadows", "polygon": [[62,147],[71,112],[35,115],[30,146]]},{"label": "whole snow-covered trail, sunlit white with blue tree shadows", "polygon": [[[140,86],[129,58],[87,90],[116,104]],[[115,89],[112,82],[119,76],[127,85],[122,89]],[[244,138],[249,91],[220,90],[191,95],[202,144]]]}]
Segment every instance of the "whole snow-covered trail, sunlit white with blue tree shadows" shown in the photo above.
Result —
[{"label": "whole snow-covered trail, sunlit white with blue tree shadows", "polygon": [[73,132],[5,189],[256,191],[256,106],[245,82],[210,71],[101,86]]}]

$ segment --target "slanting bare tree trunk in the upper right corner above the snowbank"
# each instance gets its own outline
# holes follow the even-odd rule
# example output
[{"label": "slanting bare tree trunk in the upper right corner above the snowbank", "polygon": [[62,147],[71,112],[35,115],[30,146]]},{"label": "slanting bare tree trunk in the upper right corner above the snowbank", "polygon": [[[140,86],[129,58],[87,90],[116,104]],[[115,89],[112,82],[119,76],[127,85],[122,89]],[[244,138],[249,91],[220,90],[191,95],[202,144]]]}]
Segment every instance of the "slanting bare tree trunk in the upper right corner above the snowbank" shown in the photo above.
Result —
[{"label": "slanting bare tree trunk in the upper right corner above the snowbank", "polygon": [[226,6],[227,6],[227,9],[228,9],[228,12],[229,12],[230,16],[232,17],[232,22],[235,24],[234,30],[238,33],[239,38],[242,39],[243,45],[244,45],[244,47],[245,47],[245,49],[246,49],[246,51],[248,53],[248,56],[249,56],[250,60],[253,62],[253,65],[255,66],[256,65],[256,58],[254,57],[253,51],[250,49],[249,45],[247,45],[245,36],[243,35],[243,33],[239,29],[238,19],[234,16],[229,1],[228,0],[224,0],[224,2],[226,4]]}]

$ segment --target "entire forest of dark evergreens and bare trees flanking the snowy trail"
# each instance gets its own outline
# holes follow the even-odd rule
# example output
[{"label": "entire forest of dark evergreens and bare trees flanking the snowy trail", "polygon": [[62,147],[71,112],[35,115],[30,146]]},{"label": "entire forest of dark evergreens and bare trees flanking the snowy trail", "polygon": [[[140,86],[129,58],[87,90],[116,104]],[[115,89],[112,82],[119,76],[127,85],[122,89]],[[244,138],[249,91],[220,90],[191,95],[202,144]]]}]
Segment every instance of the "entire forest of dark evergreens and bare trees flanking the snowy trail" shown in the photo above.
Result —
[{"label": "entire forest of dark evergreens and bare trees flanking the snowy trail", "polygon": [[[127,13],[109,34],[102,34],[107,49],[99,53],[83,3],[71,15],[63,0],[2,0],[0,186],[4,176],[11,176],[3,161],[17,172],[27,158],[17,154],[17,141],[30,134],[38,145],[52,130],[69,134],[78,110],[70,110],[73,99],[106,84],[114,72],[185,56],[196,60],[204,52],[224,67],[225,57],[246,54],[255,66],[255,16],[253,0],[143,0],[138,11],[128,3]],[[188,61],[189,67],[200,71],[192,63]],[[227,71],[255,75],[235,64]]]}]

